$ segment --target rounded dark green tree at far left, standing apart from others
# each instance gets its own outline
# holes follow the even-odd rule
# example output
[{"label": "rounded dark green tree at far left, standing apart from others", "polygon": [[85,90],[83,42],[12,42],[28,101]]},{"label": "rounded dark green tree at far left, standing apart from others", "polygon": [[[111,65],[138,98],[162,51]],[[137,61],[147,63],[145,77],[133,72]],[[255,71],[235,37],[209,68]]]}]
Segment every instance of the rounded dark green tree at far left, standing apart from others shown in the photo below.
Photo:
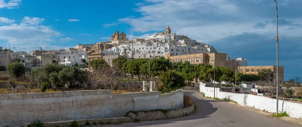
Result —
[{"label": "rounded dark green tree at far left, standing apart from others", "polygon": [[13,62],[8,64],[7,70],[11,76],[20,77],[25,73],[24,64],[20,62]]}]

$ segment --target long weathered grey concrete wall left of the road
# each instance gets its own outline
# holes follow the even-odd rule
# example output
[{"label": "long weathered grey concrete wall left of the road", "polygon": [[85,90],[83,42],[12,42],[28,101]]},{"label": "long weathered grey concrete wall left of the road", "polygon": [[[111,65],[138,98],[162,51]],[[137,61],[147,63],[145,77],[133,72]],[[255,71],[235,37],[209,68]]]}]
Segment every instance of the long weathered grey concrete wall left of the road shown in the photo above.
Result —
[{"label": "long weathered grey concrete wall left of the road", "polygon": [[0,94],[0,126],[122,117],[130,110],[178,109],[183,91],[111,94],[111,90]]}]

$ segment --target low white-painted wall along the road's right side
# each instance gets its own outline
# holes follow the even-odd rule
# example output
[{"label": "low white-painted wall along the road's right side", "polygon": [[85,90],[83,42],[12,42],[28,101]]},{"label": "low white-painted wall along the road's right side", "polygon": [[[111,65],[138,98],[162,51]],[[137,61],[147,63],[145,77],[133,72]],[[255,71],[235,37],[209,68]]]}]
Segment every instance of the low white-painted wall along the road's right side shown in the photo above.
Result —
[{"label": "low white-painted wall along the road's right side", "polygon": [[[213,97],[214,92],[213,87],[205,87],[205,85],[200,85],[200,92],[203,92],[207,97]],[[215,97],[220,99],[230,99],[236,101],[238,104],[243,106],[250,106],[260,110],[266,110],[268,112],[276,112],[276,99],[266,96],[258,96],[253,94],[244,93],[233,93],[233,92],[223,92],[220,88],[215,88]],[[302,103],[290,102],[286,100],[278,101],[279,112],[286,112],[290,117],[302,118]]]}]

